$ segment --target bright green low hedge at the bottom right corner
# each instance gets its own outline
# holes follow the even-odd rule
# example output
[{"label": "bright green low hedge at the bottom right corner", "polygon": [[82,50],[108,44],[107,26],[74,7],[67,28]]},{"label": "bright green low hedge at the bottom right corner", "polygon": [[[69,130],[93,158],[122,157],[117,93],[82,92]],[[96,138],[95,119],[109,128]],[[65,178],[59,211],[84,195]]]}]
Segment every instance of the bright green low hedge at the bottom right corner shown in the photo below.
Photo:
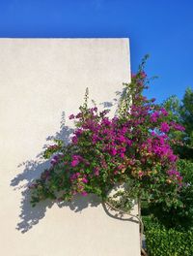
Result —
[{"label": "bright green low hedge at the bottom right corner", "polygon": [[150,256],[193,256],[193,231],[167,230],[150,220],[144,222]]}]

